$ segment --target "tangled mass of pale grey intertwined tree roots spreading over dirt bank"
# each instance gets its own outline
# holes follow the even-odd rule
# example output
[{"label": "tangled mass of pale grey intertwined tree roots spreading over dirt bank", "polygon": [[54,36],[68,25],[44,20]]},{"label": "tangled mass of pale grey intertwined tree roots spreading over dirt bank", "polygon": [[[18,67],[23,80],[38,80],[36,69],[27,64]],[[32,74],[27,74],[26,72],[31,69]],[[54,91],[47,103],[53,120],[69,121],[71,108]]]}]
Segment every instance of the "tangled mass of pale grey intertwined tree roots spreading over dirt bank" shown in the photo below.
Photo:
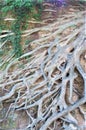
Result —
[{"label": "tangled mass of pale grey intertwined tree roots spreading over dirt bank", "polygon": [[[82,65],[82,60],[85,63],[86,40],[83,14],[81,20],[73,16],[76,20],[66,20],[66,24],[62,22],[59,28],[55,22],[51,28],[48,25],[47,28],[31,30],[50,32],[32,42],[32,46],[37,43],[35,49],[11,61],[3,75],[1,73],[0,91],[5,94],[2,93],[0,103],[10,103],[4,118],[11,109],[14,112],[23,110],[29,119],[25,129],[74,130],[80,128],[73,113],[79,108],[85,122],[86,65]],[[67,30],[68,34],[64,32],[60,37],[65,29],[73,27],[76,29]],[[31,34],[30,31],[25,33]],[[50,37],[55,40],[48,42]],[[24,59],[27,56],[29,61]]]}]

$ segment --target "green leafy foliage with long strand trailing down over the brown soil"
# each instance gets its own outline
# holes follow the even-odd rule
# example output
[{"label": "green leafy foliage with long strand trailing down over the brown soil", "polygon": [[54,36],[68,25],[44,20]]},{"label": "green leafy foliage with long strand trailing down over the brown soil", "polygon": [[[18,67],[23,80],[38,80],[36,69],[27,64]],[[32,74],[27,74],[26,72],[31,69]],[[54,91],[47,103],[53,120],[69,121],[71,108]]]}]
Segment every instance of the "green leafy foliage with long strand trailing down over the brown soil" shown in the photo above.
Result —
[{"label": "green leafy foliage with long strand trailing down over the brown soil", "polygon": [[[39,19],[42,1],[43,0],[3,0],[0,2],[0,14],[7,15],[7,13],[11,12],[16,19],[11,27],[14,36],[12,36],[10,40],[17,57],[22,55],[22,47],[20,44],[21,30],[26,28],[26,21],[29,17]],[[35,13],[35,8],[37,8],[38,14]]]}]

